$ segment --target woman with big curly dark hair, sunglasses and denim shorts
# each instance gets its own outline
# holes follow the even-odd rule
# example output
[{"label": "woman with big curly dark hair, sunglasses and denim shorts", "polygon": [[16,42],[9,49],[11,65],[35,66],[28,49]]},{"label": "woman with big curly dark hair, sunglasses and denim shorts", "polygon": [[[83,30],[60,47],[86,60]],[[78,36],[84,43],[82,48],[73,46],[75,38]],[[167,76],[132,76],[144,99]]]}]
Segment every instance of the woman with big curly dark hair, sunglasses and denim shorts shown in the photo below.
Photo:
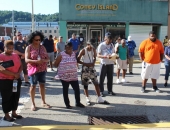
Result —
[{"label": "woman with big curly dark hair, sunglasses and denim shorts", "polygon": [[42,107],[50,108],[50,105],[45,102],[46,68],[49,58],[45,47],[40,45],[43,39],[44,35],[41,32],[35,31],[31,33],[28,36],[28,43],[30,45],[25,50],[25,61],[28,63],[28,76],[30,76],[31,83],[30,96],[32,100],[32,111],[36,110],[34,98],[37,82],[39,82]]}]

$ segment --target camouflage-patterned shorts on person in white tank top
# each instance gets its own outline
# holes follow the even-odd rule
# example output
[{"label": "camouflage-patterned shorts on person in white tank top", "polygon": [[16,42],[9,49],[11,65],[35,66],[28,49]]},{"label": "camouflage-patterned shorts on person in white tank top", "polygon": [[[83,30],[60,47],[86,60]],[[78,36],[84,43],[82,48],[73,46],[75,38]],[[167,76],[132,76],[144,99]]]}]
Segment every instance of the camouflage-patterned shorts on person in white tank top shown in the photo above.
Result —
[{"label": "camouflage-patterned shorts on person in white tank top", "polygon": [[88,86],[89,80],[93,82],[94,85],[98,85],[97,72],[93,67],[82,66],[81,81],[82,85]]}]

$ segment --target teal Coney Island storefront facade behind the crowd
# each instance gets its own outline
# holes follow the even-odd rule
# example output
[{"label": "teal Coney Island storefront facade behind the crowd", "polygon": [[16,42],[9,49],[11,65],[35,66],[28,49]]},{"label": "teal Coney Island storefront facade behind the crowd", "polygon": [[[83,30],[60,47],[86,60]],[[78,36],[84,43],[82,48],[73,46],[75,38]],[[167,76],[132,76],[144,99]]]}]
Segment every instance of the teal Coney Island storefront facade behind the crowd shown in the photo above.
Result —
[{"label": "teal Coney Island storefront facade behind the crowd", "polygon": [[100,42],[111,32],[113,37],[131,35],[138,48],[151,30],[160,40],[167,35],[168,0],[59,0],[59,20],[65,40],[83,33],[86,41]]}]

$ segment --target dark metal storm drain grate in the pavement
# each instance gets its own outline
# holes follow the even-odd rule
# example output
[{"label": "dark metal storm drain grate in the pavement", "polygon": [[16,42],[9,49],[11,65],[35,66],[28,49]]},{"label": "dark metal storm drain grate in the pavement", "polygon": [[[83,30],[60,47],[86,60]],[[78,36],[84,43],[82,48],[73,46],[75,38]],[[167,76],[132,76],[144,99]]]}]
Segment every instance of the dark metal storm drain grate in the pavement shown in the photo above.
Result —
[{"label": "dark metal storm drain grate in the pavement", "polygon": [[88,120],[89,125],[150,123],[146,116],[89,116]]}]

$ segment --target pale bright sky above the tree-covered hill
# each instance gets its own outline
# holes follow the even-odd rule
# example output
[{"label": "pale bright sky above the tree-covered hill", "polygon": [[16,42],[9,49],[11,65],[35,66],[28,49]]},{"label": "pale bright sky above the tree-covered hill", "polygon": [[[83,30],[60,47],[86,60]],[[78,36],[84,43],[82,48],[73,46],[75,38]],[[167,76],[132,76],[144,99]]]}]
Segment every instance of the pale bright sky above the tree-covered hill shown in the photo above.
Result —
[{"label": "pale bright sky above the tree-covered hill", "polygon": [[[59,0],[33,0],[34,14],[59,12]],[[0,10],[16,10],[32,13],[32,0],[0,0]]]}]

